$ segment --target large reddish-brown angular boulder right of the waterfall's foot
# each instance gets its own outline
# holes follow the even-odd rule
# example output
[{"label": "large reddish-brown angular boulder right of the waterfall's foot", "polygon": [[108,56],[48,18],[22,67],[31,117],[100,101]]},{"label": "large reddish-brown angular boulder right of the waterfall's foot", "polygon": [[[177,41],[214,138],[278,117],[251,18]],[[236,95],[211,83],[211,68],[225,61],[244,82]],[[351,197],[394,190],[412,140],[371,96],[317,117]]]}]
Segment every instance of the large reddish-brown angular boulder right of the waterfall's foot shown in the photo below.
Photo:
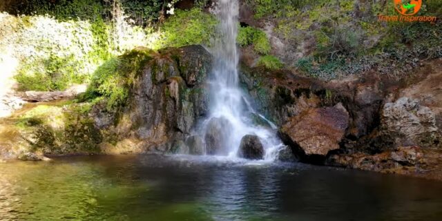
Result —
[{"label": "large reddish-brown angular boulder right of the waterfall's foot", "polygon": [[339,148],[348,122],[349,114],[341,104],[314,108],[292,117],[280,128],[280,135],[301,156],[325,156]]}]

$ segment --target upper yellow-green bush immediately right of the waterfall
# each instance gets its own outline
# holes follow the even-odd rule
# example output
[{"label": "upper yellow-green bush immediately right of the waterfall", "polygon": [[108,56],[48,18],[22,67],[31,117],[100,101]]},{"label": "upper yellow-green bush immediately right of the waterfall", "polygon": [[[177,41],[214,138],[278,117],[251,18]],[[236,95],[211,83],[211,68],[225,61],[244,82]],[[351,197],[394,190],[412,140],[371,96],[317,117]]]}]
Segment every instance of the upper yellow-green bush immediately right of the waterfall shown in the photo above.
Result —
[{"label": "upper yellow-green bush immediately right of the waterfall", "polygon": [[242,47],[253,45],[253,50],[260,55],[267,55],[271,50],[270,41],[265,32],[251,26],[240,27],[237,41]]}]

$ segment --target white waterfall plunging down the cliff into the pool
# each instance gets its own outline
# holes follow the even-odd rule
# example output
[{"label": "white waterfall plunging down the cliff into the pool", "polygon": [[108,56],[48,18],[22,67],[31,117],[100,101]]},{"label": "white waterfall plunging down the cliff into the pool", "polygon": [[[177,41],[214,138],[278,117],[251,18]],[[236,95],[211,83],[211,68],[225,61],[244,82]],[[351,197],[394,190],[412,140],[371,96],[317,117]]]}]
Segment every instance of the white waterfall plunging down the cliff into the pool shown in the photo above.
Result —
[{"label": "white waterfall plunging down the cliff into the pool", "polygon": [[[257,117],[262,117],[262,115],[253,111],[239,87],[239,52],[236,45],[238,0],[219,0],[215,13],[220,19],[219,31],[222,37],[215,42],[212,49],[215,64],[210,82],[210,116],[204,122],[203,134],[212,119],[224,119],[224,122],[227,120],[231,126],[222,128],[223,133],[226,133],[228,137],[222,146],[224,153],[227,153],[229,157],[236,157],[242,137],[257,135],[265,148],[265,160],[273,160],[282,144],[271,128],[252,124],[251,114],[255,114]],[[269,123],[272,127],[274,126],[271,122]]]}]

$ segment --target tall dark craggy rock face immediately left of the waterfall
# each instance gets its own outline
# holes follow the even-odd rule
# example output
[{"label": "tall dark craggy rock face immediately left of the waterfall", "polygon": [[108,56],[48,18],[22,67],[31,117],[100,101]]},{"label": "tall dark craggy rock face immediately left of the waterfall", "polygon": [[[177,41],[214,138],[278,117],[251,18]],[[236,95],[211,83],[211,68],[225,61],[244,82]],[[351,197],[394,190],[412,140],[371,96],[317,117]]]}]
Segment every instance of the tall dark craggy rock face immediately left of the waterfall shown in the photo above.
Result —
[{"label": "tall dark craggy rock face immediately left of the waterfall", "polygon": [[99,128],[112,128],[111,122],[117,122],[113,132],[118,137],[135,137],[146,151],[171,151],[208,111],[204,81],[212,57],[202,46],[151,53],[152,59],[134,79],[131,100],[121,114],[128,115],[128,120],[122,122],[121,115],[113,120],[101,113],[95,122]]}]

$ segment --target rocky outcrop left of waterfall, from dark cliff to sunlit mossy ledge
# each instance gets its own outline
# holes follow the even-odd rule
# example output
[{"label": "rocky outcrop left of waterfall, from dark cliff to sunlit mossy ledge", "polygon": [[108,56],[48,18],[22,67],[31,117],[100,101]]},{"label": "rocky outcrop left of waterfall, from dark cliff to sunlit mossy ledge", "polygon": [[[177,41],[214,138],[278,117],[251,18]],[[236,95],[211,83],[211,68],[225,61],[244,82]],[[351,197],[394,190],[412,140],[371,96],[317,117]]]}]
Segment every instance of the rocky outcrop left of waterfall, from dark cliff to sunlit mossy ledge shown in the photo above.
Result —
[{"label": "rocky outcrop left of waterfall, from dark cliff to sunlit mossy ledge", "polygon": [[106,99],[111,98],[105,97],[94,104],[60,105],[52,100],[76,93],[28,92],[28,100],[37,103],[5,119],[0,154],[32,160],[42,155],[164,152],[175,146],[201,154],[204,147],[187,146],[199,145],[200,140],[187,144],[184,140],[207,111],[204,81],[211,70],[209,52],[202,46],[160,52],[135,48],[122,56],[126,62],[144,59],[128,79],[132,83],[124,105],[109,109]]}]

